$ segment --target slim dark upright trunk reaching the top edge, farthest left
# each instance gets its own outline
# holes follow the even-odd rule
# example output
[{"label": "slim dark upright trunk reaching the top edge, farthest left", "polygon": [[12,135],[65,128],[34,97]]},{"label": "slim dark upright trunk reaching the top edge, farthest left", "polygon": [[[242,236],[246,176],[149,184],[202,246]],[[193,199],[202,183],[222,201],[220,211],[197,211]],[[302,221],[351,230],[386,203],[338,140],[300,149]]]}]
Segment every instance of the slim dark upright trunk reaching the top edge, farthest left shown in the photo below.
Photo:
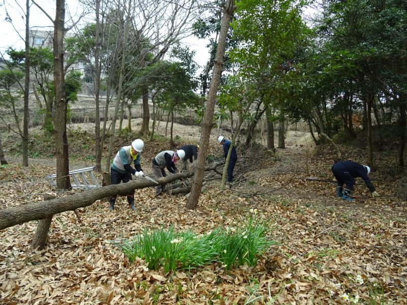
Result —
[{"label": "slim dark upright trunk reaching the top edge, farthest left", "polygon": [[25,15],[25,81],[22,131],[22,166],[28,166],[28,98],[30,97],[30,0],[26,0]]}]

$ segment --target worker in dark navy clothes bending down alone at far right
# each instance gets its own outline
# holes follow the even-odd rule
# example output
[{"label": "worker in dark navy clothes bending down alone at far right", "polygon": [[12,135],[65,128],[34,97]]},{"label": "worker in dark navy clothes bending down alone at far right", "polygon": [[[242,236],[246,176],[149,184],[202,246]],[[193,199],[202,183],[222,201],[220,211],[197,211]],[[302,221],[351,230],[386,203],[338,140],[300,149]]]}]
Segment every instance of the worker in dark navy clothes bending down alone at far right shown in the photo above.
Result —
[{"label": "worker in dark navy clothes bending down alone at far right", "polygon": [[[337,162],[332,165],[332,173],[334,174],[337,182],[337,195],[342,197],[343,200],[354,200],[351,197],[351,192],[355,186],[355,178],[361,177],[369,191],[372,193],[373,198],[380,195],[376,192],[372,182],[370,181],[368,174],[370,173],[370,167],[367,165],[361,165],[353,161]],[[346,185],[343,189],[343,185]]]}]

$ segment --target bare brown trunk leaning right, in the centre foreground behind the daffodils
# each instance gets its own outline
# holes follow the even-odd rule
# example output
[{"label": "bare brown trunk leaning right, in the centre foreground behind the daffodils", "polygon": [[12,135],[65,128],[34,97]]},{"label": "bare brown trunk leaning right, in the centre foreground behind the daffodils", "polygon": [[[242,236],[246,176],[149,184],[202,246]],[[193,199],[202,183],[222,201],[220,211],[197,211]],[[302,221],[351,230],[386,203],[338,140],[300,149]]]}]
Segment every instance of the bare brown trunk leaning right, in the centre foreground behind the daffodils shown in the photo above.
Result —
[{"label": "bare brown trunk leaning right, in the centre foreground behind the daffodils", "polygon": [[[199,141],[198,160],[196,161],[195,176],[191,188],[191,193],[186,204],[186,209],[195,209],[198,205],[200,191],[202,188],[203,174],[205,173],[205,161],[207,158],[207,151],[209,147],[209,139],[211,136],[213,113],[215,109],[216,94],[219,87],[220,77],[223,71],[223,56],[225,53],[226,37],[229,29],[230,18],[236,10],[235,2],[227,0],[223,12],[222,24],[220,28],[220,35],[218,47],[216,50],[215,63],[213,69],[213,76],[209,88],[207,107],[205,117],[203,118],[201,127],[201,136]],[[231,150],[231,149],[230,149]]]}]

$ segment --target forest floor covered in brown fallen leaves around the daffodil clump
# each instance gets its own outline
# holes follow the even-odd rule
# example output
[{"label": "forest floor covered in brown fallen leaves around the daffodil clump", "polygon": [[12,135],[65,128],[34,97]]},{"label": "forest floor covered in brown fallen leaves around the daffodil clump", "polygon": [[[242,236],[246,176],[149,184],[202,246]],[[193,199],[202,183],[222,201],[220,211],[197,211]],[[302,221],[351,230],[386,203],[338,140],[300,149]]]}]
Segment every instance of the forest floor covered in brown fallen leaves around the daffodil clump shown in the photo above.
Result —
[{"label": "forest floor covered in brown fallen leaves around the daffodil clump", "polygon": [[[92,136],[83,129],[69,138],[71,157],[79,156],[71,160],[77,166],[92,165],[92,160],[83,162],[92,153],[84,148],[91,146]],[[199,133],[185,130],[176,131],[177,143],[197,143]],[[129,139],[124,135],[117,147],[128,145]],[[213,139],[208,154],[221,155],[216,131]],[[52,149],[45,142],[37,144],[49,147],[39,156]],[[308,135],[299,132],[288,133],[286,144],[276,154],[261,147],[240,154],[236,173],[241,182],[222,192],[220,180],[213,180],[196,210],[185,209],[184,196],[156,199],[152,189],[141,189],[136,190],[137,211],[119,198],[112,212],[107,203],[96,202],[77,210],[80,219],[72,211],[55,215],[44,251],[30,250],[36,222],[0,231],[1,303],[406,304],[405,176],[390,170],[390,152],[375,153],[377,168],[370,175],[382,197],[371,198],[362,182],[354,192],[358,199],[349,202],[336,197],[335,184],[305,180],[333,179],[331,147],[315,150]],[[167,149],[168,142],[157,137],[145,147],[142,166],[151,173],[149,160],[157,150]],[[364,163],[363,150],[340,148],[346,159]],[[3,167],[1,207],[40,201],[46,192],[55,192],[44,180],[54,172],[53,162],[40,158],[30,160],[28,168],[17,163]],[[252,214],[254,209],[257,214]],[[228,272],[214,261],[166,273],[146,268],[142,258],[130,263],[115,246],[144,229],[172,225],[177,231],[206,234],[247,217],[269,219],[269,238],[278,242],[259,257],[256,267]]]}]

